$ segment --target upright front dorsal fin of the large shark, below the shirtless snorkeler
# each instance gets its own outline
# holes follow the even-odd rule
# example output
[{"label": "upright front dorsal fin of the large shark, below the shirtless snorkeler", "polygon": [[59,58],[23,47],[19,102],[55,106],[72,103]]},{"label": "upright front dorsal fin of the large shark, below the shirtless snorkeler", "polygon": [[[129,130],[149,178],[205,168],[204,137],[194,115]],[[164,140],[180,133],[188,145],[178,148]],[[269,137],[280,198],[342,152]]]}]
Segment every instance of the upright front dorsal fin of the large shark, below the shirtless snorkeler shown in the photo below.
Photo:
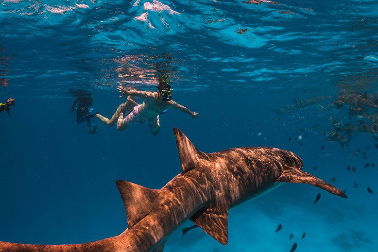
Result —
[{"label": "upright front dorsal fin of the large shark, below the shirtless snorkeler", "polygon": [[206,153],[195,148],[188,137],[179,129],[173,128],[173,133],[176,137],[176,145],[181,162],[181,175],[184,175],[195,168],[201,162],[201,159],[206,157]]}]

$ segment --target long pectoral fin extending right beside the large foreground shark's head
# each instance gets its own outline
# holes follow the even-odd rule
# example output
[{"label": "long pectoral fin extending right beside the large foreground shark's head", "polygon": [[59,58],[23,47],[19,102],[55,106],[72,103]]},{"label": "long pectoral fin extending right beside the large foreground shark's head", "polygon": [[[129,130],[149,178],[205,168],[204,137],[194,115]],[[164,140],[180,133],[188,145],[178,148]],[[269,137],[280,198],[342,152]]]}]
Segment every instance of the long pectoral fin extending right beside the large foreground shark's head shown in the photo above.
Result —
[{"label": "long pectoral fin extending right beside the large foreground shark's head", "polygon": [[322,188],[323,190],[326,190],[327,192],[333,193],[337,196],[348,198],[337,187],[330,185],[326,183],[325,181],[309,174],[308,172],[297,169],[297,168],[286,167],[283,170],[281,176],[277,179],[277,181],[314,185],[316,187]]}]

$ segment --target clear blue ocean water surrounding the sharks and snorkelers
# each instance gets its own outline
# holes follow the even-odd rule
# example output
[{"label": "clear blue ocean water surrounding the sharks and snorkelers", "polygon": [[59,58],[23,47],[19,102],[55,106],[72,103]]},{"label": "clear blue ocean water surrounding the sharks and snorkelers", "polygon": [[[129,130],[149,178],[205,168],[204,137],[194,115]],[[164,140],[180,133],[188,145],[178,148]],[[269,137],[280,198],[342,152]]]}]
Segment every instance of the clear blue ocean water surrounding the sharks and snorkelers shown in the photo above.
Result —
[{"label": "clear blue ocean water surrounding the sharks and snorkelers", "polygon": [[[358,125],[347,106],[332,105],[340,93],[377,95],[377,21],[374,0],[0,0],[0,102],[15,98],[11,115],[0,114],[0,240],[119,235],[127,221],[115,181],[168,183],[181,171],[177,127],[205,152],[293,151],[348,199],[281,185],[229,212],[226,246],[180,227],[164,251],[276,252],[296,242],[298,252],[377,252],[378,202],[367,187],[378,190],[378,142],[353,132],[343,149],[318,130],[333,129],[329,116]],[[86,92],[110,117],[124,102],[117,86],[155,91],[160,74],[198,118],[170,110],[157,136],[144,124],[119,132],[93,118],[99,130],[87,134],[69,113]],[[320,96],[328,98],[285,109]]]}]

